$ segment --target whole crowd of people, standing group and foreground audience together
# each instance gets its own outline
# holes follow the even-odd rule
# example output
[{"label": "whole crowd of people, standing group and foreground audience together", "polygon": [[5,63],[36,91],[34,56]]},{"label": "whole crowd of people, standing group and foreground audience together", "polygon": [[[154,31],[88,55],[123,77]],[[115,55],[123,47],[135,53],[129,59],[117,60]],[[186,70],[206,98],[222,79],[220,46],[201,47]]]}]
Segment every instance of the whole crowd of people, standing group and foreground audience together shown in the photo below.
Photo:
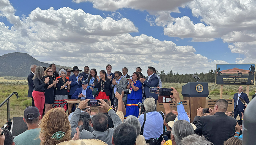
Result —
[{"label": "whole crowd of people, standing group and foreground audience together", "polygon": [[[219,99],[213,109],[209,108],[210,115],[204,116],[203,108],[198,108],[197,116],[190,121],[179,92],[172,87],[170,97],[177,104],[178,115],[172,112],[169,103],[163,103],[165,112],[156,111],[158,94],[149,93],[149,88],[160,87],[161,79],[153,67],[148,67],[148,76],[144,77],[139,67],[129,76],[127,68],[123,68],[123,74],[111,73],[112,66],[107,65],[106,71],[101,70],[98,76],[88,66],[80,74],[77,66],[73,70],[62,68],[59,73],[54,64],[50,66],[44,72],[42,66],[31,65],[34,76],[28,76],[32,80],[28,83],[34,85],[29,96],[35,105],[24,111],[28,130],[14,139],[8,136],[8,130],[0,130],[0,145],[3,142],[4,145],[242,145],[242,126],[225,114],[228,107],[225,99]],[[131,93],[125,94],[125,89]],[[241,90],[240,86],[238,96],[234,97],[242,97]],[[82,101],[68,115],[65,99]],[[92,99],[99,100],[96,114],[88,105]],[[143,102],[145,111],[138,107],[139,102]],[[238,100],[235,108],[239,105]]]}]

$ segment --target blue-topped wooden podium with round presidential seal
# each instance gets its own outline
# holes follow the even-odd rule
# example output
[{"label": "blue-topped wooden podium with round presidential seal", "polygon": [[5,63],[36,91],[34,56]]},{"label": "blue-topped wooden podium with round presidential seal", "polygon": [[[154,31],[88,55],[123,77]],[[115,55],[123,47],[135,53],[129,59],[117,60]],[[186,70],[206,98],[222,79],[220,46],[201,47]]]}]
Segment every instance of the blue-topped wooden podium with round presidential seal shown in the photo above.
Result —
[{"label": "blue-topped wooden podium with round presidential seal", "polygon": [[189,82],[182,86],[181,94],[184,100],[189,100],[190,122],[193,122],[197,109],[205,108],[206,97],[209,95],[208,83]]}]

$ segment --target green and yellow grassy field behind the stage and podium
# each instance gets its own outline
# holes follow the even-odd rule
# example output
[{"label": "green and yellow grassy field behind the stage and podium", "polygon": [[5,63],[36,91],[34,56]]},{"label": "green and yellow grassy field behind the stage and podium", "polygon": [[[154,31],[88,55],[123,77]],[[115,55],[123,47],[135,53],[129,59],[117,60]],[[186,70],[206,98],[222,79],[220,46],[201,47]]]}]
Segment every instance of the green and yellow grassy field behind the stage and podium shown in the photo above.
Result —
[{"label": "green and yellow grassy field behind the stage and podium", "polygon": [[[16,91],[19,94],[19,99],[16,96],[12,96],[10,98],[10,118],[13,117],[21,117],[23,116],[23,111],[27,106],[32,105],[31,98],[28,98],[28,85],[25,81],[1,81],[3,79],[0,77],[0,102],[2,103],[12,92]],[[180,92],[180,97],[183,99],[181,95],[182,85],[186,83],[163,83],[162,87],[170,88],[174,87]],[[211,99],[219,99],[220,98],[220,86],[215,85],[215,83],[208,83],[209,88],[209,97]],[[238,86],[223,86],[223,98],[224,99],[233,99],[233,94],[237,92]],[[246,86],[243,86],[244,92],[246,92]],[[249,100],[252,99],[252,95],[256,90],[256,86],[249,87]],[[208,98],[207,98],[208,99]],[[0,127],[3,126],[7,122],[7,105],[3,105],[0,108]]]}]

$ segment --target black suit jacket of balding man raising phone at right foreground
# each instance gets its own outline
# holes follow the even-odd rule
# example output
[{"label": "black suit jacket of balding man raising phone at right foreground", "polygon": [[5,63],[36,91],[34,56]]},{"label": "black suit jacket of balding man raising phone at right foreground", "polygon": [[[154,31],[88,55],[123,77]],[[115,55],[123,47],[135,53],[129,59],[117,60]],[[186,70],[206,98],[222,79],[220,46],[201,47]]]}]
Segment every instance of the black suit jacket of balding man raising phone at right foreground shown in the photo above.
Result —
[{"label": "black suit jacket of balding man raising phone at right foreground", "polygon": [[235,135],[237,121],[224,112],[216,112],[214,115],[196,116],[193,124],[197,127],[196,134],[204,135],[214,145],[223,145],[223,142]]}]

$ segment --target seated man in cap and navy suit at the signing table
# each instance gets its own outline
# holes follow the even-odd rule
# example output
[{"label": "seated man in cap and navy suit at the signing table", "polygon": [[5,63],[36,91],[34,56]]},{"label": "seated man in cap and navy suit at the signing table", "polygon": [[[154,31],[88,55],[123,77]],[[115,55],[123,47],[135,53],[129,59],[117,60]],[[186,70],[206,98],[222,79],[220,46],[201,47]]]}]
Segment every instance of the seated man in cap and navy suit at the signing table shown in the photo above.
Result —
[{"label": "seated man in cap and navy suit at the signing table", "polygon": [[93,99],[91,89],[87,89],[88,81],[82,81],[82,87],[77,88],[74,94],[71,96],[71,99]]}]

